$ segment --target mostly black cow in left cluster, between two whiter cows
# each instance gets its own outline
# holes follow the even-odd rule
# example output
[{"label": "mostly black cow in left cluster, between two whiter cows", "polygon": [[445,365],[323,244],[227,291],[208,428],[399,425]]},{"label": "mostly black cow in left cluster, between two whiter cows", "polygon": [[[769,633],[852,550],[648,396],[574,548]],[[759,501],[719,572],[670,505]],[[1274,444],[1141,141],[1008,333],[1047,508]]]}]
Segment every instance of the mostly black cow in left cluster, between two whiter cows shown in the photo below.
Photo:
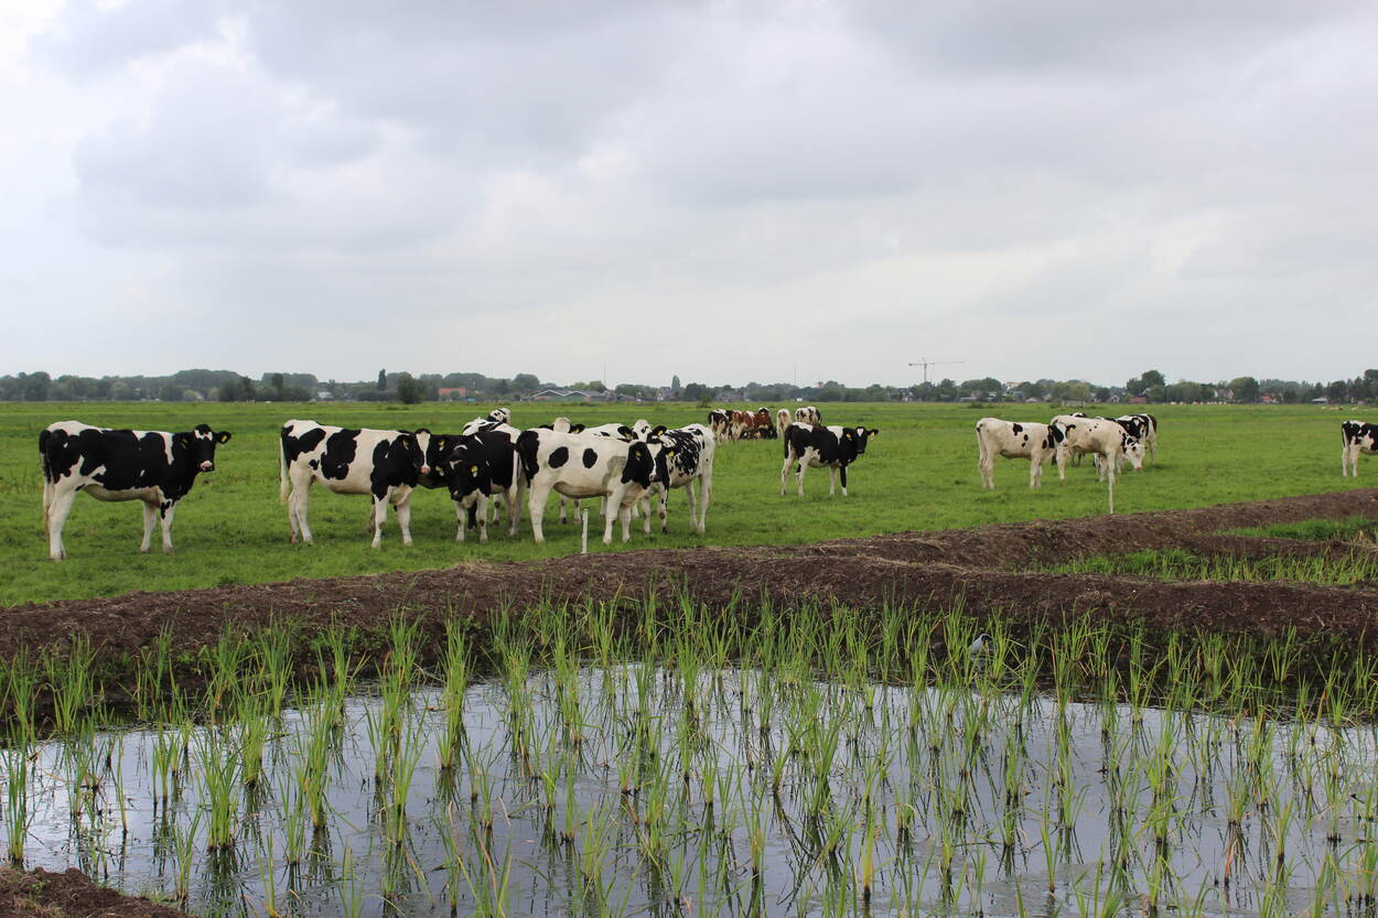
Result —
[{"label": "mostly black cow in left cluster, between two whiter cows", "polygon": [[[521,469],[517,463],[517,437],[520,430],[507,425],[495,425],[477,434],[446,440],[444,459],[445,482],[455,502],[455,516],[459,518],[456,542],[464,540],[464,529],[478,528],[478,540],[488,542],[489,498],[502,498],[507,504],[507,535],[517,535],[521,516],[520,493],[522,485]],[[433,441],[434,442],[434,438]]]}]

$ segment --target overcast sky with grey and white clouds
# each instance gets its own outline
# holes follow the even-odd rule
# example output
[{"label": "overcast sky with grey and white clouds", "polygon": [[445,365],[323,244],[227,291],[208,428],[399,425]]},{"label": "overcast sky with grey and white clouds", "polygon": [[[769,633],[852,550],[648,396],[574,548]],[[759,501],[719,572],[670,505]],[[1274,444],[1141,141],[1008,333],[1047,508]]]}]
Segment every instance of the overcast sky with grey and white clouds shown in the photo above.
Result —
[{"label": "overcast sky with grey and white clouds", "polygon": [[0,3],[0,372],[1356,376],[1375,47],[1359,0]]}]

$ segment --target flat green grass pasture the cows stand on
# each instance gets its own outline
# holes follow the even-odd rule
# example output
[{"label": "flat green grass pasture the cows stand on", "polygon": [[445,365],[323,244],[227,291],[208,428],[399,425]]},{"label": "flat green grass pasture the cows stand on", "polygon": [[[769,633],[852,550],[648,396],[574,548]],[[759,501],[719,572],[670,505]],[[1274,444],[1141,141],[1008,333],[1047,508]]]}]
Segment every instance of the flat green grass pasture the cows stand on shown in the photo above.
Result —
[{"label": "flat green grass pasture the cows stand on", "polygon": [[[7,404],[0,411],[0,605],[114,595],[134,590],[172,590],[265,583],[292,578],[442,568],[469,558],[532,560],[579,550],[575,525],[559,527],[547,514],[544,546],[522,535],[510,540],[499,528],[486,546],[455,543],[455,513],[444,491],[418,493],[415,544],[404,549],[395,521],[383,549],[369,549],[364,533],[367,500],[311,489],[316,546],[288,543],[287,510],[278,503],[277,431],[289,418],[367,427],[429,427],[455,431],[486,404],[415,407],[379,404]],[[1105,488],[1090,463],[1043,476],[1028,489],[1028,462],[996,465],[994,492],[983,492],[976,470],[973,426],[984,415],[1046,420],[1050,405],[830,404],[827,423],[879,427],[865,456],[853,467],[850,496],[828,498],[825,470],[805,481],[806,496],[781,498],[777,441],[721,444],[714,476],[708,533],[689,533],[683,496],[671,495],[667,536],[633,539],[612,550],[644,547],[799,543],[915,529],[945,529],[989,522],[1078,517],[1105,510]],[[1089,414],[1097,414],[1089,408]],[[517,426],[535,426],[558,414],[586,423],[646,418],[678,426],[706,420],[707,411],[686,404],[513,405]],[[1109,412],[1108,412],[1109,414]],[[1115,412],[1118,414],[1118,412]],[[1338,426],[1349,414],[1313,407],[1155,405],[1160,420],[1159,462],[1126,473],[1115,493],[1122,514],[1199,507],[1322,491],[1378,481],[1378,463],[1360,462],[1357,481],[1339,476]],[[70,560],[47,560],[41,520],[37,434],[54,420],[77,419],[106,427],[189,430],[209,423],[234,438],[216,455],[216,471],[201,476],[179,504],[176,554],[138,554],[142,514],[135,503],[102,503],[79,496],[63,539]],[[590,522],[590,529],[594,529]],[[590,551],[604,551],[591,538]],[[157,551],[157,536],[154,536]]]}]

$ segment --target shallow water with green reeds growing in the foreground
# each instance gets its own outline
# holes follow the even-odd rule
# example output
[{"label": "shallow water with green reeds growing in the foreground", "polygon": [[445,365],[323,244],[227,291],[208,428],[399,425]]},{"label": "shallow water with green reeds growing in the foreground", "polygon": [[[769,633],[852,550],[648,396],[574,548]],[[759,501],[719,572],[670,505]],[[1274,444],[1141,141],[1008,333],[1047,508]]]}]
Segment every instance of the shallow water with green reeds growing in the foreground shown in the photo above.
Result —
[{"label": "shallow water with green reeds growing in the foreground", "polygon": [[[291,801],[311,706],[273,725],[266,780],[236,791],[238,842],[218,855],[204,779],[218,751],[238,748],[233,725],[189,728],[167,804],[157,729],[43,743],[25,863],[171,897],[181,835],[187,906],[211,915],[262,914],[269,886],[294,915],[354,914],[350,896],[361,915],[448,915],[451,892],[459,914],[1108,914],[1116,889],[1124,914],[1156,895],[1177,914],[1251,915],[1317,900],[1361,911],[1353,896],[1372,882],[1371,729],[757,671],[624,666],[524,685],[515,697],[503,684],[467,691],[467,766],[453,775],[438,766],[438,691],[412,693],[400,844],[379,817],[389,791],[369,722],[382,702],[364,695],[333,733],[328,824],[305,827],[299,864],[287,828],[303,819]],[[1237,827],[1232,788],[1247,795]]]}]

